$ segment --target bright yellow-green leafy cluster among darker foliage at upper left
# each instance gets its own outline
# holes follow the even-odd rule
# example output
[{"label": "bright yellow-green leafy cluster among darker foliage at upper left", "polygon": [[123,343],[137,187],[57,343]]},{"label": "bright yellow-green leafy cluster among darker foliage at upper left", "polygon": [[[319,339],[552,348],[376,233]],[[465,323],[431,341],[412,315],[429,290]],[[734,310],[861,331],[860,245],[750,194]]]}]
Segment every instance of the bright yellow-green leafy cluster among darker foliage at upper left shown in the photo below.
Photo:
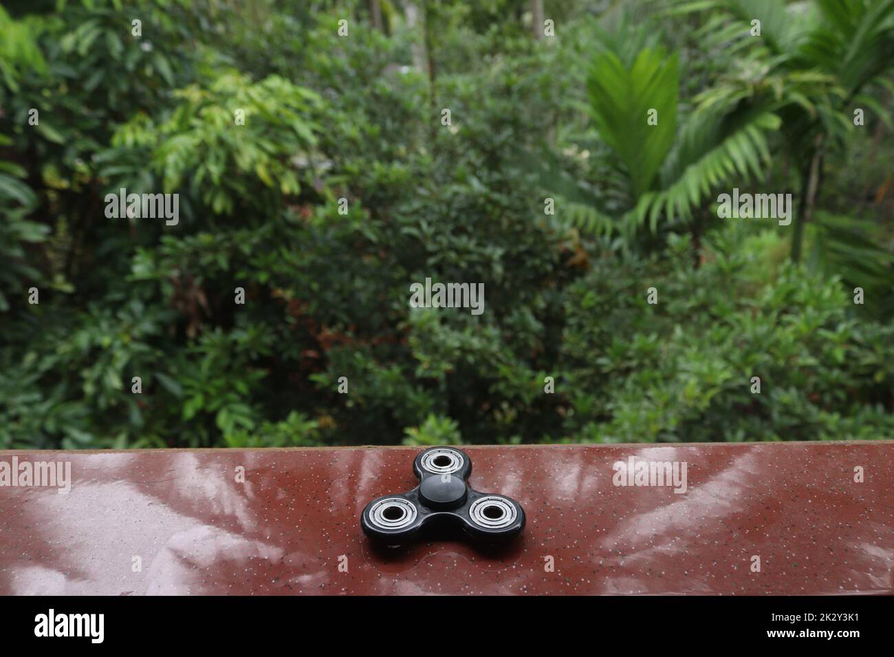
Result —
[{"label": "bright yellow-green leafy cluster among darker foliage at upper left", "polygon": [[[112,139],[118,148],[100,158],[112,165],[100,173],[124,173],[115,164],[123,159],[121,150],[135,150],[128,154],[136,169],[128,172],[131,181],[138,180],[142,169],[137,167],[148,158],[165,192],[188,188],[190,198],[215,215],[269,211],[274,199],[297,196],[299,175],[292,160],[308,160],[316,144],[319,128],[308,114],[319,106],[319,97],[278,76],[252,84],[239,73],[224,73],[208,87],[175,92],[181,104],[160,125],[145,114],[123,125]],[[236,112],[244,126],[234,123]]]}]

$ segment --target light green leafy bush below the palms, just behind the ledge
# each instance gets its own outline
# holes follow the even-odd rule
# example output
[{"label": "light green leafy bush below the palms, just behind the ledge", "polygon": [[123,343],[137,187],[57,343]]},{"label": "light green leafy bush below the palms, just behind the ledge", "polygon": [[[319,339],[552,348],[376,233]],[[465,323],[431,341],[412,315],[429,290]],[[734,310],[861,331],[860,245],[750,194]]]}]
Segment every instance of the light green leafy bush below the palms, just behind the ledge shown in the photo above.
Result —
[{"label": "light green leafy bush below the palms, just behind the ledge", "polygon": [[[894,327],[848,314],[834,279],[792,265],[768,276],[772,240],[740,240],[718,235],[696,270],[686,266],[687,239],[672,240],[673,266],[609,261],[574,285],[564,434],[597,442],[890,435]],[[656,288],[657,304],[646,303],[640,281]]]}]

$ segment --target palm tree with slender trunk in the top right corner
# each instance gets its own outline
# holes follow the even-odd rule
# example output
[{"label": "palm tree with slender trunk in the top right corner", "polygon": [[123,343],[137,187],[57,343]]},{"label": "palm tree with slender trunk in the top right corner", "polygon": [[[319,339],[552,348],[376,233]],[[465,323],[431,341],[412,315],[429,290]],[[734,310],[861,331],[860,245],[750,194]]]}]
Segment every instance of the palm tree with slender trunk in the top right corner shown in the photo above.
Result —
[{"label": "palm tree with slender trunk in the top right corner", "polygon": [[[805,223],[813,214],[814,192],[823,158],[854,139],[854,103],[885,111],[872,90],[890,88],[894,69],[894,0],[670,0],[671,14],[713,11],[703,33],[710,46],[726,45],[743,61],[739,75],[721,80],[705,104],[746,104],[754,112],[772,110],[800,173],[801,202],[795,215],[792,257],[802,251]],[[761,36],[749,27],[761,16]],[[834,239],[839,232],[822,232]],[[846,247],[845,247],[846,248]],[[842,245],[821,249],[841,252]],[[853,266],[853,263],[848,265]]]}]

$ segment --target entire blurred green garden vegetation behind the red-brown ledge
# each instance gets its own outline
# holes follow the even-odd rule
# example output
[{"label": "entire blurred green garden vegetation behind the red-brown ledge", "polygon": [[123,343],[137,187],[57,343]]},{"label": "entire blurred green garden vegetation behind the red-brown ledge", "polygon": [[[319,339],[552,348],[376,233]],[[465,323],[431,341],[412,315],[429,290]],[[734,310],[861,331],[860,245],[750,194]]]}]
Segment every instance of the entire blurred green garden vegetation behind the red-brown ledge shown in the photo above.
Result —
[{"label": "entire blurred green garden vegetation behind the red-brown ledge", "polygon": [[894,0],[4,0],[0,449],[892,438],[892,69]]}]

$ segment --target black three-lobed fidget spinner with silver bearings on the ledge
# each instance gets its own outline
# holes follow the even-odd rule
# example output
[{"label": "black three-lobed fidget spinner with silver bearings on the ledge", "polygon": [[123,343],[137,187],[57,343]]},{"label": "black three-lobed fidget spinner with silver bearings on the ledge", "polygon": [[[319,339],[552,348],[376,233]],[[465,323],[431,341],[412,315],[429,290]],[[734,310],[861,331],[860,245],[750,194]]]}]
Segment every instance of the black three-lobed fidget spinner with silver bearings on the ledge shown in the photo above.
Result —
[{"label": "black three-lobed fidget spinner with silver bearings on the ledge", "polygon": [[419,485],[409,493],[385,495],[360,515],[364,533],[377,543],[397,545],[424,528],[452,525],[477,541],[497,543],[519,535],[525,511],[505,495],[478,493],[468,485],[472,461],[464,451],[431,447],[413,460]]}]

